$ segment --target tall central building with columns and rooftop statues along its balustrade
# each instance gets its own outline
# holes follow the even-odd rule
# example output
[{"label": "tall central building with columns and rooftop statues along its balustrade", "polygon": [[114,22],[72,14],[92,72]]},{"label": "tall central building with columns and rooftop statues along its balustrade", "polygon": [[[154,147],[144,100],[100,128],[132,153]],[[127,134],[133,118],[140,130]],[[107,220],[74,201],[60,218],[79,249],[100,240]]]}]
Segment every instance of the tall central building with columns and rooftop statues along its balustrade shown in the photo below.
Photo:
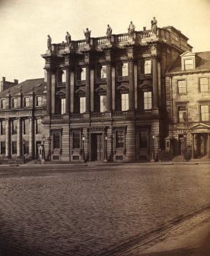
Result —
[{"label": "tall central building with columns and rooftop statues along its balustrade", "polygon": [[167,137],[165,73],[192,47],[176,28],[157,29],[154,21],[153,30],[133,25],[132,33],[93,38],[87,29],[88,40],[48,41],[46,160],[157,158]]}]

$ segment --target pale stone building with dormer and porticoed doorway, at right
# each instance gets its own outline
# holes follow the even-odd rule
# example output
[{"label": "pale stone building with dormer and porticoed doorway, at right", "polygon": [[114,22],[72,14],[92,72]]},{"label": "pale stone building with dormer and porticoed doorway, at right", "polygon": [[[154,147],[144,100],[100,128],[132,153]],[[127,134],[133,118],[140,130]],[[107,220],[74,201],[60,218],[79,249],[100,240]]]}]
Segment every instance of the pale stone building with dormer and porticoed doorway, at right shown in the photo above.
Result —
[{"label": "pale stone building with dormer and porticoed doorway, at right", "polygon": [[173,156],[210,158],[209,77],[210,52],[180,54],[166,74]]}]

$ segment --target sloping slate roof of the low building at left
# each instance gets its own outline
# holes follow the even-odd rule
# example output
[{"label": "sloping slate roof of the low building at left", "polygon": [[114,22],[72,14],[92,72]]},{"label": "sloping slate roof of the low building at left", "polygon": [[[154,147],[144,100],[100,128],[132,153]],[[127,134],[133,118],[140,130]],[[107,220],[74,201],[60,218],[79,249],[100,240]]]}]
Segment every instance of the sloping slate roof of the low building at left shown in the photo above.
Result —
[{"label": "sloping slate roof of the low building at left", "polygon": [[8,91],[10,91],[11,96],[18,96],[18,93],[22,93],[24,96],[30,94],[30,92],[35,93],[35,95],[43,94],[43,91],[46,89],[46,83],[43,78],[37,79],[27,79],[22,83],[19,83],[16,86],[11,86],[10,89],[5,89],[0,92],[0,98],[7,96]]}]

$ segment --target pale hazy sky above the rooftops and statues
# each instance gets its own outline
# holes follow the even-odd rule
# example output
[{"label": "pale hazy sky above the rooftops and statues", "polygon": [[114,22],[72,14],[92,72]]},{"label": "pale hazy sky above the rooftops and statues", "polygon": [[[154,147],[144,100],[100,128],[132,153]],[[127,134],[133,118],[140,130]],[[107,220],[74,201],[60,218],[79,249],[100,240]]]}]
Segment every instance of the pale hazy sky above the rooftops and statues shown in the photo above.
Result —
[{"label": "pale hazy sky above the rooftops and statues", "polygon": [[130,21],[135,30],[173,26],[189,38],[193,52],[210,50],[210,0],[0,0],[0,81],[43,77],[47,34],[52,44],[91,37],[126,33]]}]

